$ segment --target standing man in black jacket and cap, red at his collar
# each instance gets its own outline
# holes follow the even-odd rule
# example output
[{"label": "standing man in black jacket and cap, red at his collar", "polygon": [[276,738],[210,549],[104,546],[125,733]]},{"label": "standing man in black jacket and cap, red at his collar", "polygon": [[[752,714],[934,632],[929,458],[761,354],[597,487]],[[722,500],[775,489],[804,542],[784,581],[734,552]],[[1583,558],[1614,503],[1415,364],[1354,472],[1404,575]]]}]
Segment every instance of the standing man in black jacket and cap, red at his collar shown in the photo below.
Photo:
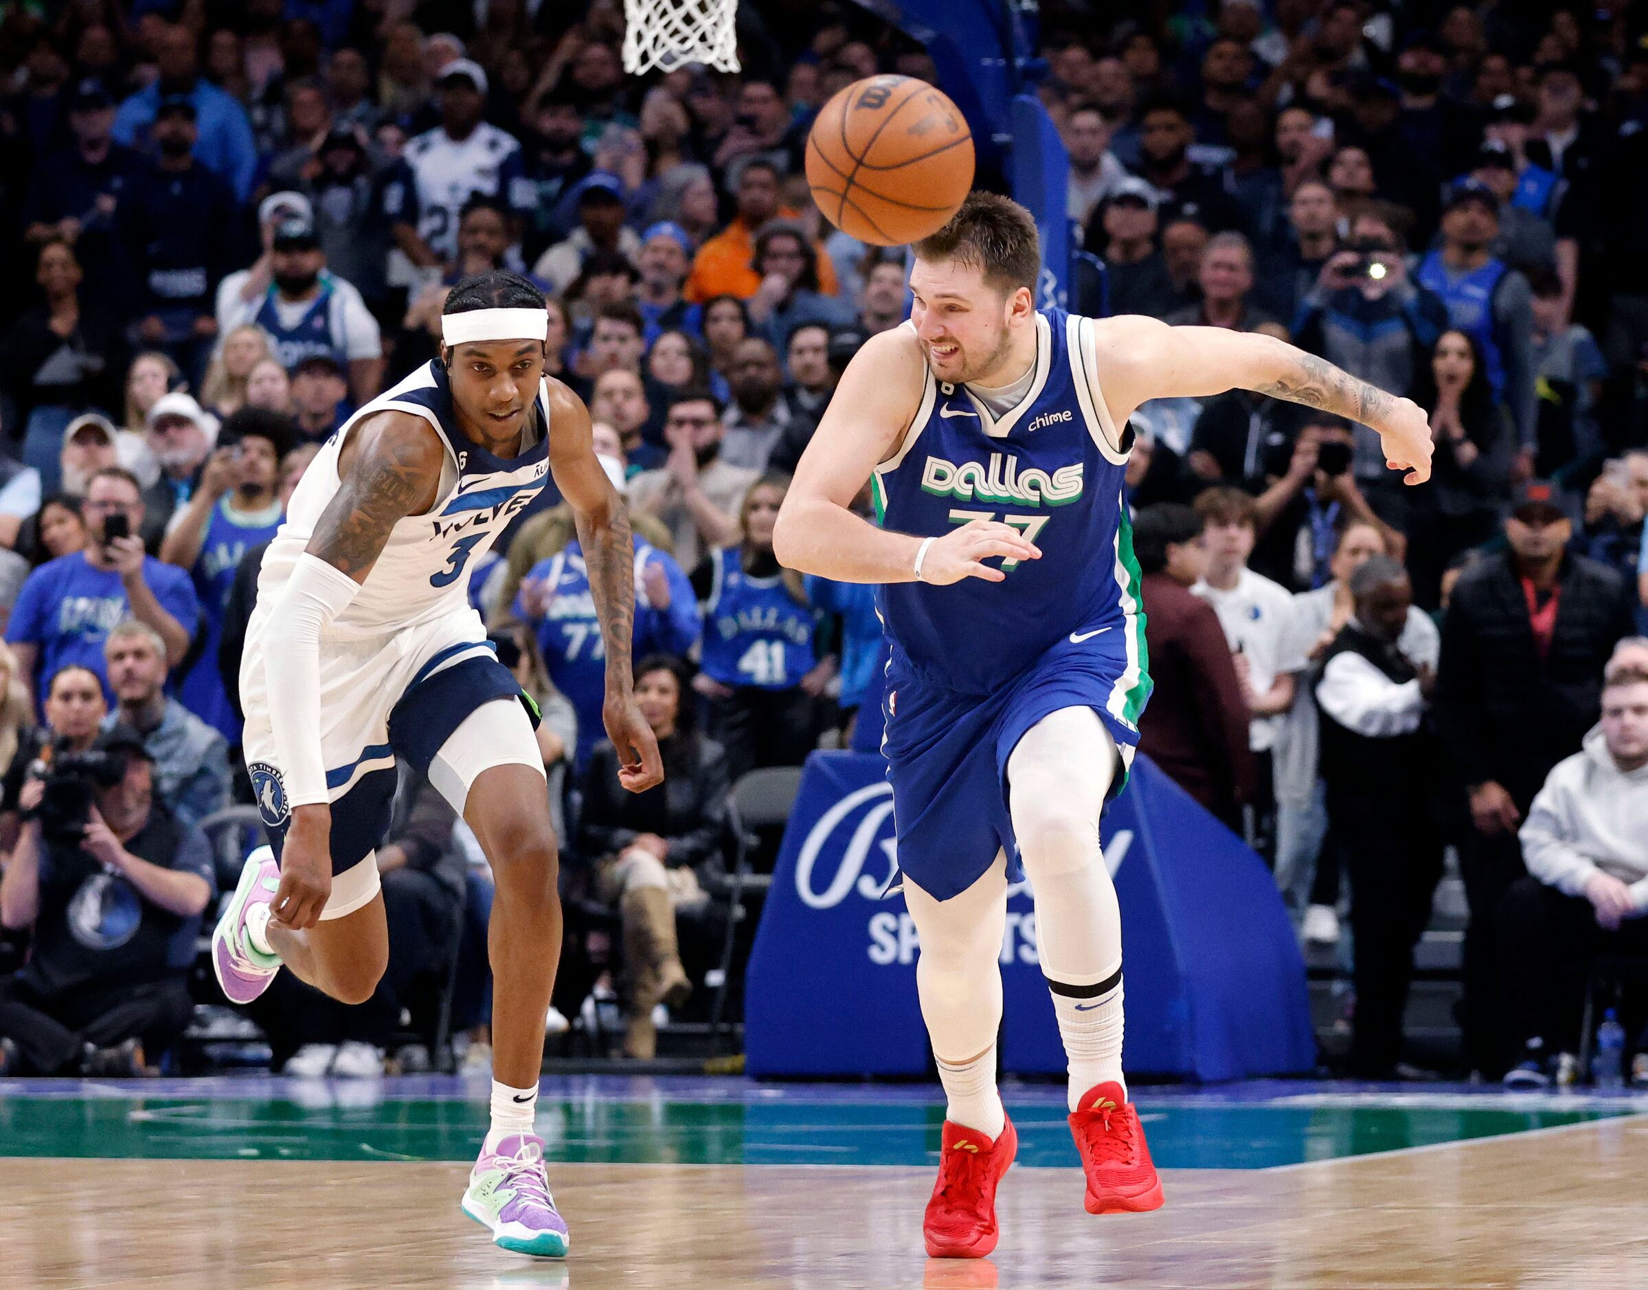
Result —
[{"label": "standing man in black jacket and cap, red at his collar", "polygon": [[1508,550],[1454,587],[1442,619],[1435,720],[1472,827],[1460,839],[1465,1045],[1472,1064],[1505,1068],[1496,919],[1523,876],[1516,827],[1551,768],[1579,751],[1600,712],[1600,677],[1633,606],[1612,568],[1567,554],[1572,526],[1549,483],[1529,481],[1505,521]]}]

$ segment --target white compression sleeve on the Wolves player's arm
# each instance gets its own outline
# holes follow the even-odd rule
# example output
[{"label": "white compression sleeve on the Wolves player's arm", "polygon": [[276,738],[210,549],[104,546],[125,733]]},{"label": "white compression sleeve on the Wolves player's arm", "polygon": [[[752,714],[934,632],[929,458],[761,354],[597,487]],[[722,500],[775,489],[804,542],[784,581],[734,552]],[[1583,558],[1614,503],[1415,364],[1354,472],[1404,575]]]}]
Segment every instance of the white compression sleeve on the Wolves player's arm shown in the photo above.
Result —
[{"label": "white compression sleeve on the Wolves player's arm", "polygon": [[361,585],[318,555],[298,557],[264,638],[264,684],[288,806],[328,802],[320,748],[320,633]]}]

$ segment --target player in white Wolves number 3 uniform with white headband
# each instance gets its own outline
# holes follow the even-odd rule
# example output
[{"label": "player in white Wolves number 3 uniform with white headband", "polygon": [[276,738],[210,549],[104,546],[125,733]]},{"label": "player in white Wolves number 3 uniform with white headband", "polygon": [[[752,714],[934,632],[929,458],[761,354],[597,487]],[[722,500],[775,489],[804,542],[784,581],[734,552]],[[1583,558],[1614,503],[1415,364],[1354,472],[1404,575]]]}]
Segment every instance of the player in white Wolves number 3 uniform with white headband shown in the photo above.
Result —
[{"label": "player in white Wolves number 3 uniform with white headband", "polygon": [[506,272],[458,283],[442,354],[335,433],[269,544],[246,634],[246,761],[274,839],[254,852],[213,936],[234,1002],[282,965],[344,1003],[389,954],[374,848],[396,761],[427,773],[491,862],[491,1130],[463,1196],[504,1249],[559,1257],[534,1133],[544,1018],[560,956],[555,835],[536,712],[466,600],[470,560],[552,471],[572,507],[606,647],[605,723],[620,781],[662,768],[631,694],[630,517],[590,442],[590,415],[544,376],[542,293]]}]

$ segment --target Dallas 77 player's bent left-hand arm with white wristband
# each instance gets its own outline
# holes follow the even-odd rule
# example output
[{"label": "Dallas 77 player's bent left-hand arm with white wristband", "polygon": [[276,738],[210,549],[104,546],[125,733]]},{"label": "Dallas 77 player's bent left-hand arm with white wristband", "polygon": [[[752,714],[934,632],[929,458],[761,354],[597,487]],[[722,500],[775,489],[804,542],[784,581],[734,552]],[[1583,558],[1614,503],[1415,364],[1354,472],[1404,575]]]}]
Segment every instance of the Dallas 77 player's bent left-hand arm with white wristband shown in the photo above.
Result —
[{"label": "Dallas 77 player's bent left-hand arm with white wristband", "polygon": [[[925,539],[870,524],[854,514],[852,499],[898,451],[921,405],[923,364],[915,336],[901,330],[872,336],[847,364],[778,512],[773,552],[781,565],[834,582],[916,580]],[[994,555],[1035,560],[1042,552],[1017,529],[976,519],[934,537],[921,559],[921,582],[1000,582],[1007,575],[982,563]]]}]

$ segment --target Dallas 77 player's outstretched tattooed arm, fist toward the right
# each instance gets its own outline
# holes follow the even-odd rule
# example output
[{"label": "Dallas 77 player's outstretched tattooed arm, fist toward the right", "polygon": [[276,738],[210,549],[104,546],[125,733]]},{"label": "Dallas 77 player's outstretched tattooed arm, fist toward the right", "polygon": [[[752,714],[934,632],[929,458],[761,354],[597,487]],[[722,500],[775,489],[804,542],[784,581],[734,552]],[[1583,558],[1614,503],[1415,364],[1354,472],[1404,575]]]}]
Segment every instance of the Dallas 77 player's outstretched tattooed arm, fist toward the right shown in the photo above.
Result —
[{"label": "Dallas 77 player's outstretched tattooed arm, fist toward the right", "polygon": [[1369,386],[1287,341],[1211,326],[1119,316],[1094,323],[1099,389],[1116,425],[1150,399],[1244,389],[1318,407],[1379,433],[1386,465],[1409,484],[1430,478],[1430,423],[1411,399]]}]

